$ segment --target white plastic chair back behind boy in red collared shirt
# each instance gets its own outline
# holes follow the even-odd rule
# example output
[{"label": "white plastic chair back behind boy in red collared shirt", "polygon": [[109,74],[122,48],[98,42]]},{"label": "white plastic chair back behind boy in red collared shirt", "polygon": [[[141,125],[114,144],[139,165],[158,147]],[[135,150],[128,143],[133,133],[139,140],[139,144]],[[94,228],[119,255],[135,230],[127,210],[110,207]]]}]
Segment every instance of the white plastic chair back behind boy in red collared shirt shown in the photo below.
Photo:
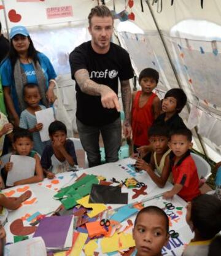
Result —
[{"label": "white plastic chair back behind boy in red collared shirt", "polygon": [[195,153],[191,153],[191,155],[195,161],[199,179],[207,179],[211,175],[211,166],[200,155],[196,155]]}]

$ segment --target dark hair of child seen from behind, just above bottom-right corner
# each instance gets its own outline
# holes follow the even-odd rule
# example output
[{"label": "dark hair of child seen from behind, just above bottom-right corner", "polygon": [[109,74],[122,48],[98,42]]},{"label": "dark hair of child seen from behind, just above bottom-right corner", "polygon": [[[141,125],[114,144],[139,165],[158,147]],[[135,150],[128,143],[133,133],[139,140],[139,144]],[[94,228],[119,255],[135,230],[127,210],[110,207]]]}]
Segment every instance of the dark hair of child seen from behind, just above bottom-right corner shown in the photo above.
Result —
[{"label": "dark hair of child seen from behind, just above bottom-right corner", "polygon": [[201,238],[214,238],[221,230],[221,201],[207,194],[193,198],[190,218]]}]

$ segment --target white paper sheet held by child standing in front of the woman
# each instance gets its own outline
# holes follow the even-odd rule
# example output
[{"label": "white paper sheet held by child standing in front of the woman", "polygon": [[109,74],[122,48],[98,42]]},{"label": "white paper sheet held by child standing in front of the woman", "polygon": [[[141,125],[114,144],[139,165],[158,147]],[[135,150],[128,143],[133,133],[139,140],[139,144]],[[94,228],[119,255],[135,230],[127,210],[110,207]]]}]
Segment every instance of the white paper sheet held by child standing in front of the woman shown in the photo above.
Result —
[{"label": "white paper sheet held by child standing in front of the woman", "polygon": [[48,136],[48,126],[50,123],[55,121],[53,108],[49,107],[48,109],[43,109],[42,111],[35,112],[37,123],[43,123],[43,128],[40,131],[41,140],[48,141],[50,138]]}]

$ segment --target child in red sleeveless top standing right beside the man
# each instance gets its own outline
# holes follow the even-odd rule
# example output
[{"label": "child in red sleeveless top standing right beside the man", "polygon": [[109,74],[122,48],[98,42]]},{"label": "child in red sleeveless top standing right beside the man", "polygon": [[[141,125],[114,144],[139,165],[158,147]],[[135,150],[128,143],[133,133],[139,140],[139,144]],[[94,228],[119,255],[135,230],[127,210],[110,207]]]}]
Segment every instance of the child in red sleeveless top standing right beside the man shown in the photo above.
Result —
[{"label": "child in red sleeveless top standing right beside the man", "polygon": [[134,152],[142,145],[148,145],[147,131],[160,114],[160,99],[153,93],[157,87],[159,73],[152,68],[146,68],[139,75],[139,85],[142,90],[133,94],[131,111]]}]

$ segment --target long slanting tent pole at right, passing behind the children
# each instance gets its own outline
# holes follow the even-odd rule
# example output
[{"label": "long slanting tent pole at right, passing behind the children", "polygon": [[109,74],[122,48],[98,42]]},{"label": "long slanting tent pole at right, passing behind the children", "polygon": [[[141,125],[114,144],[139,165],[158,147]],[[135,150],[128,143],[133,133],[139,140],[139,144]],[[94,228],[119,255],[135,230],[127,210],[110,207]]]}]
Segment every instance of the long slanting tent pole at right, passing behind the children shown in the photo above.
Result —
[{"label": "long slanting tent pole at right, passing behind the children", "polygon": [[[159,1],[159,0],[158,0],[158,1]],[[182,89],[182,86],[181,86],[179,77],[177,76],[177,73],[176,73],[176,68],[174,67],[173,61],[171,60],[171,57],[170,57],[170,55],[169,55],[169,51],[168,51],[168,48],[167,48],[167,46],[166,46],[166,42],[165,42],[165,40],[163,39],[163,36],[162,36],[161,33],[160,33],[160,29],[159,29],[159,26],[158,26],[158,24],[157,24],[157,20],[156,20],[154,14],[153,14],[152,8],[151,8],[150,3],[149,3],[149,0],[145,0],[145,2],[147,3],[147,6],[149,7],[150,14],[152,15],[152,18],[153,18],[153,21],[154,21],[155,26],[156,26],[156,28],[157,28],[158,34],[159,34],[159,36],[160,36],[161,42],[163,43],[163,47],[165,48],[166,55],[168,56],[169,63],[171,64],[171,67],[172,67],[172,69],[173,69],[174,76],[176,77],[176,80],[177,80],[177,83],[178,83],[178,85],[179,85],[179,88]],[[188,104],[188,102],[187,102],[186,106],[187,106],[187,110],[188,110],[188,112],[189,112],[189,114],[190,114],[190,105]],[[204,153],[205,157],[208,159],[206,147],[204,146],[203,142],[201,141],[201,136],[200,136],[200,134],[198,134],[198,130],[197,130],[196,127],[194,128],[194,130],[196,131],[196,136],[198,137],[198,139],[199,139],[199,141],[200,141],[200,145],[201,145],[201,147],[202,147],[202,149],[203,149],[203,153]]]}]

